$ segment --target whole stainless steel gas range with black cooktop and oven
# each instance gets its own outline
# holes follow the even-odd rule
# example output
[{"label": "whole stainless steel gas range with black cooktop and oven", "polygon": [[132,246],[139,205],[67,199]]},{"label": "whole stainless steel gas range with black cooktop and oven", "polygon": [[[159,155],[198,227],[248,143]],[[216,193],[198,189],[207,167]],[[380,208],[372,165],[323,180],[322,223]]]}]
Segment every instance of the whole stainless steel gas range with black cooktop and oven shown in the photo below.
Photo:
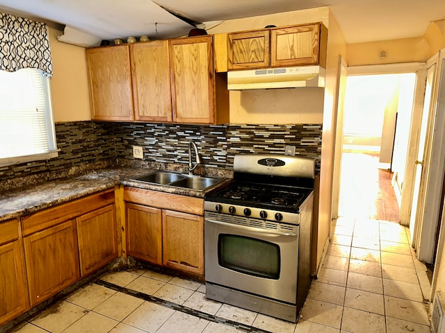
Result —
[{"label": "whole stainless steel gas range with black cooktop and oven", "polygon": [[204,199],[206,296],[296,323],[312,280],[314,160],[236,155]]}]

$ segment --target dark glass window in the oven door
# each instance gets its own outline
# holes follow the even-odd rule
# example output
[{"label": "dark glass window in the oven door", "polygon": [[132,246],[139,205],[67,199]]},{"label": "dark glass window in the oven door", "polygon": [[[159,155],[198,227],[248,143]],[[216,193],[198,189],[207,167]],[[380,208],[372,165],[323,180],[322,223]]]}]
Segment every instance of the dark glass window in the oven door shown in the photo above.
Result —
[{"label": "dark glass window in the oven door", "polygon": [[219,234],[218,263],[240,273],[278,280],[280,246],[234,234]]}]

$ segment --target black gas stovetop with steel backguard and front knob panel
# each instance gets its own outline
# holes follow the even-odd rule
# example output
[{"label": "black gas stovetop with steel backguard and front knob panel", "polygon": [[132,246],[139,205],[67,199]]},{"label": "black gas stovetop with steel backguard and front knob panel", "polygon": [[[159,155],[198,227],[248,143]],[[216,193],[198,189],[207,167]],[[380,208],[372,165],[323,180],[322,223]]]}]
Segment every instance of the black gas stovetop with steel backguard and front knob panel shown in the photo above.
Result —
[{"label": "black gas stovetop with steel backguard and front knob panel", "polygon": [[204,210],[271,221],[293,221],[314,189],[314,160],[235,155],[234,181],[206,195]]}]

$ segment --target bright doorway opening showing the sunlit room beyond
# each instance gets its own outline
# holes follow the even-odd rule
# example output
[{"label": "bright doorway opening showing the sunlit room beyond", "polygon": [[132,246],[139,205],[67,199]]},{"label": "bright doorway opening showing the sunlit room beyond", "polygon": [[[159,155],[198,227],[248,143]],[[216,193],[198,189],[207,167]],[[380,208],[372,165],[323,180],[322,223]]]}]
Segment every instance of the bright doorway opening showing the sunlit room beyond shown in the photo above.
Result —
[{"label": "bright doorway opening showing the sunlit room beyond", "polygon": [[416,74],[349,76],[339,216],[399,222]]}]

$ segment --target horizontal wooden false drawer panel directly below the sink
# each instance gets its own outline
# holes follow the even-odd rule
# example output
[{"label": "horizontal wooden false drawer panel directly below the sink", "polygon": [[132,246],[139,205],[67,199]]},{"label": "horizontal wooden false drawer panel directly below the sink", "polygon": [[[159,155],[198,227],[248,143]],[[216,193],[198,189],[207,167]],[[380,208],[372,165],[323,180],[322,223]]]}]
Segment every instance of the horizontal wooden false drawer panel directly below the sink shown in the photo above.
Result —
[{"label": "horizontal wooden false drawer panel directly below the sink", "polygon": [[136,187],[124,188],[124,200],[164,210],[204,215],[204,199]]}]

